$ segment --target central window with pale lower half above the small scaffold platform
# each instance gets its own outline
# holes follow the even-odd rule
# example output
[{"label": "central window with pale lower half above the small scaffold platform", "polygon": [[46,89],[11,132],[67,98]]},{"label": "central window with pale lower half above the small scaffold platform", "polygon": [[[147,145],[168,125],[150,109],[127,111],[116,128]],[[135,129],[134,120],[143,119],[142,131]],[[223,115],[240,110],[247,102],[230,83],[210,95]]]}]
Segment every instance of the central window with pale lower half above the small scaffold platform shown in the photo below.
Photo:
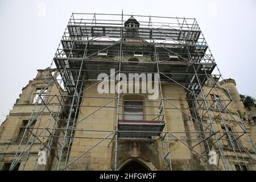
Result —
[{"label": "central window with pale lower half above the small scaffold platform", "polygon": [[126,120],[143,120],[143,104],[140,101],[125,102]]}]

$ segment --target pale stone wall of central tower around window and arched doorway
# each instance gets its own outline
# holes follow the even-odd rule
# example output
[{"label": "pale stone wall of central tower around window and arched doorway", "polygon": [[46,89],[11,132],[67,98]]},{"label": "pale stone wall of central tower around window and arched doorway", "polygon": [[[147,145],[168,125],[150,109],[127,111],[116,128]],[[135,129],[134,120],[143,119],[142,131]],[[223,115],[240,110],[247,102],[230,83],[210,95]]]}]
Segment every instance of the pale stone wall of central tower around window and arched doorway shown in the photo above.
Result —
[{"label": "pale stone wall of central tower around window and arched doorway", "polygon": [[[90,82],[86,87],[93,85],[94,82]],[[185,93],[184,89],[179,85],[163,85],[163,93],[164,97],[169,98],[177,98],[184,99]],[[98,94],[97,86],[86,90],[85,96],[99,96],[99,97],[115,97],[115,94]],[[131,98],[129,94],[121,94],[121,103],[119,105],[123,105],[122,100],[143,100],[147,101],[147,95],[143,94],[135,94]],[[84,98],[82,101],[82,105],[84,106],[102,106],[106,104],[106,102],[110,101],[106,99],[95,99],[95,98]],[[166,110],[166,120],[167,120],[167,130],[168,131],[195,131],[193,129],[192,119],[188,117],[189,110],[187,102],[184,101],[171,101],[175,106],[179,109],[167,109]],[[143,102],[145,106],[156,106],[157,102]],[[146,103],[146,104],[145,104]],[[108,106],[116,106],[117,102],[111,102]],[[164,107],[172,107],[171,104],[164,103]],[[97,107],[84,107],[81,109],[81,113],[79,115],[78,121],[81,121],[76,129],[91,129],[91,130],[114,130],[115,128],[115,108],[102,108],[98,110],[96,113],[90,115],[88,118],[82,120],[87,115],[93,113]],[[158,113],[159,109],[154,107],[144,107],[143,113]],[[123,113],[123,108],[120,107],[119,113]],[[122,115],[119,115],[119,119],[122,119]],[[144,115],[144,120],[150,120],[154,118],[152,115]],[[76,159],[77,156],[81,155],[82,152],[88,150],[94,144],[96,144],[100,139],[89,139],[93,138],[103,138],[108,133],[96,132],[96,131],[76,131],[75,139],[73,140],[73,145],[71,148],[71,154],[69,158],[69,162],[73,159]],[[195,138],[195,133],[187,133],[180,134],[175,133],[175,136],[179,139],[186,138]],[[81,137],[81,138],[76,138]],[[88,139],[82,139],[82,137],[88,137]],[[174,140],[172,138],[170,142],[170,150],[171,150],[171,159],[172,165],[174,169],[205,169],[204,166],[201,165],[201,161],[199,158],[188,149],[187,146]],[[189,146],[192,146],[194,142],[191,140],[184,141]],[[165,142],[166,143],[166,142]],[[73,163],[68,169],[71,170],[104,170],[104,169],[113,169],[114,168],[114,155],[115,155],[115,142],[110,143],[109,140],[104,140],[104,142],[98,144],[95,148],[88,152],[88,154],[82,156],[75,163]],[[136,155],[133,154],[133,148],[135,148]],[[165,144],[165,149],[167,151],[167,145]],[[200,152],[200,147],[195,147],[197,152]],[[151,169],[164,170],[164,165],[162,160],[160,159],[159,152],[162,152],[162,148],[160,142],[155,142],[155,144],[150,144],[150,142],[145,142],[143,140],[119,140],[118,141],[118,160],[117,160],[117,168],[120,168],[123,163],[131,159],[142,160],[146,166]],[[162,154],[163,155],[163,154]]]}]

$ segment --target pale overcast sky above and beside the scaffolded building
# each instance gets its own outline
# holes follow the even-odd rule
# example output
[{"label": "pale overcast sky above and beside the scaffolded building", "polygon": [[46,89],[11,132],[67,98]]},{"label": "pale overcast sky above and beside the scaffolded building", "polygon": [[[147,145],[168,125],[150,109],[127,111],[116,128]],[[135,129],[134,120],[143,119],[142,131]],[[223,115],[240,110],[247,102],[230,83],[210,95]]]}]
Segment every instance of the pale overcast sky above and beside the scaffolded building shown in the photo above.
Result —
[{"label": "pale overcast sky above and beside the scaffolded building", "polygon": [[[256,97],[256,1],[0,0],[0,123],[36,69],[49,67],[72,12],[196,18],[224,78]],[[217,73],[217,72],[215,72]]]}]

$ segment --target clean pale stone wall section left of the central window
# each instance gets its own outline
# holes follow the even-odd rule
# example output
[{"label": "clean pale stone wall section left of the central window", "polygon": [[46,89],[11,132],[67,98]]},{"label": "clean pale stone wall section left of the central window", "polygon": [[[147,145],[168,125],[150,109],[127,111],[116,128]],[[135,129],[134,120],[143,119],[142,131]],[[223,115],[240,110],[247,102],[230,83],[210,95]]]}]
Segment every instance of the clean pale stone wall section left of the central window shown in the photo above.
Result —
[{"label": "clean pale stone wall section left of the central window", "polygon": [[[96,82],[88,82],[86,88],[89,88]],[[79,118],[77,121],[76,129],[83,130],[104,130],[104,131],[76,131],[75,139],[69,155],[69,162],[76,159],[84,151],[93,147],[100,142],[101,138],[105,138],[107,135],[114,131],[115,127],[115,100],[110,102],[106,107],[98,110],[101,106],[107,104],[113,100],[115,94],[100,94],[97,92],[97,85],[86,90],[84,96],[98,96],[98,97],[111,97],[111,98],[84,98],[81,102]],[[107,107],[108,106],[108,107]],[[92,114],[94,113],[94,114]],[[89,117],[88,117],[89,116]],[[86,119],[84,119],[86,118]],[[77,138],[76,138],[77,137]],[[112,156],[112,143],[109,142],[113,137],[111,135],[108,139],[104,140],[98,146],[90,150],[86,155],[82,156],[68,169],[70,170],[109,170],[111,169],[111,156]],[[109,146],[108,146],[109,145]]]}]

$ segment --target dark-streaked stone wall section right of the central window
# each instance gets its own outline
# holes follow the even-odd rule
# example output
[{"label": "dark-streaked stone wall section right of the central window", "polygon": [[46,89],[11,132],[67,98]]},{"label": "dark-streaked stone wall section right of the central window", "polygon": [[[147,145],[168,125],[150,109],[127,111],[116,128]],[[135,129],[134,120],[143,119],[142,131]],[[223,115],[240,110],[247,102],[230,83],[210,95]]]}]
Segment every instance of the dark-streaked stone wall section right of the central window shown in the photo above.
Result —
[{"label": "dark-streaked stone wall section right of the central window", "polygon": [[[193,133],[195,128],[192,118],[189,117],[191,114],[187,101],[185,101],[184,88],[177,84],[164,84],[162,89],[163,97],[172,99],[164,102],[167,130],[192,147],[196,142],[189,139],[196,139],[196,134]],[[196,152],[201,154],[200,146],[194,147],[193,150],[196,151],[194,152],[185,144],[177,139],[175,140],[174,137],[171,137],[171,139],[173,140],[170,142],[170,151],[174,170],[205,170],[203,161],[196,154]]]}]

